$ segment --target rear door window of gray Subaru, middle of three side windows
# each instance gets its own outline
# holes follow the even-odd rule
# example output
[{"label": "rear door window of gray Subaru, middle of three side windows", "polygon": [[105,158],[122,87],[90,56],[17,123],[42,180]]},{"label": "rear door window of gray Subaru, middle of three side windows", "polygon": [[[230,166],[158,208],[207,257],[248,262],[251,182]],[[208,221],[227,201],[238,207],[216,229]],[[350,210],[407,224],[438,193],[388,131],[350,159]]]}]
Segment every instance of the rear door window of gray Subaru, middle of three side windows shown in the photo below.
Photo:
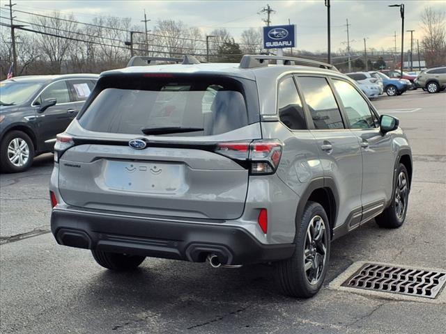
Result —
[{"label": "rear door window of gray Subaru, middle of three side windows", "polygon": [[298,82],[315,129],[344,129],[341,111],[325,78],[299,77]]}]

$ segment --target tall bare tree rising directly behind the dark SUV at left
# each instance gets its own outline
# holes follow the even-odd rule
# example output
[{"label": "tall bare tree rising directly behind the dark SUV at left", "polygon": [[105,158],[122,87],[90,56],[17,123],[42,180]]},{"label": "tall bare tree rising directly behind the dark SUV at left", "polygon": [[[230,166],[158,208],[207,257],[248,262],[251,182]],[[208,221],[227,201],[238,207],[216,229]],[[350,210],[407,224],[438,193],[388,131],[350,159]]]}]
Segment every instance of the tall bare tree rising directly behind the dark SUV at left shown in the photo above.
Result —
[{"label": "tall bare tree rising directly behind the dark SUV at left", "polygon": [[[35,17],[33,19],[33,29],[46,34],[38,35],[38,43],[43,54],[49,59],[52,72],[59,74],[61,73],[62,63],[72,46],[70,38],[75,38],[77,22],[74,22],[75,17],[72,14],[62,15],[60,12],[54,11],[48,16]],[[65,19],[65,21],[62,19]],[[54,35],[61,35],[65,38]]]}]

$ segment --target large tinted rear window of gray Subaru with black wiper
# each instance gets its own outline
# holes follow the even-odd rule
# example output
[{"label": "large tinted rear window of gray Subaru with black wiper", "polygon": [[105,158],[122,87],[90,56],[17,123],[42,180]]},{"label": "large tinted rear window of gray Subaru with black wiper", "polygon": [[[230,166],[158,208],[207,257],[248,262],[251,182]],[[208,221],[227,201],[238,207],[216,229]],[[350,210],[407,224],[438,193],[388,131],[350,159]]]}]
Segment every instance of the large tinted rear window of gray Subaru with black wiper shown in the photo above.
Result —
[{"label": "large tinted rear window of gray Subaru with black wiper", "polygon": [[[245,89],[236,79],[146,74],[98,89],[79,118],[94,132],[209,136],[249,125]],[[186,131],[152,131],[163,128]]]}]

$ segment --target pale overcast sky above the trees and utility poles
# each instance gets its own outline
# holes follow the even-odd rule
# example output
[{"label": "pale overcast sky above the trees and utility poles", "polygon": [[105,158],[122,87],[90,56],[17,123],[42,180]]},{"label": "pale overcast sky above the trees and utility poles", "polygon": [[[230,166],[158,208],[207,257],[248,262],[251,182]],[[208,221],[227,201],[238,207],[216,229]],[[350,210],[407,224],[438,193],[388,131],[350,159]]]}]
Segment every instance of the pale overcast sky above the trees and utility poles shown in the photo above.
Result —
[{"label": "pale overcast sky above the trees and utility poles", "polygon": [[[401,3],[401,0],[331,0],[332,51],[345,48],[346,19],[350,27],[351,46],[363,48],[363,38],[367,37],[367,47],[388,49],[394,47],[394,31],[397,31],[397,46],[401,45],[401,19],[399,8],[387,5]],[[96,15],[130,17],[132,24],[141,24],[144,9],[151,22],[151,29],[157,19],[181,20],[189,26],[197,26],[203,33],[224,27],[238,39],[243,30],[264,25],[264,15],[258,14],[261,8],[270,4],[276,12],[272,15],[272,25],[286,24],[288,19],[297,25],[298,49],[325,51],[327,47],[327,15],[324,0],[312,1],[130,1],[130,0],[77,0],[77,1],[26,1],[15,0],[17,10],[34,13],[48,13],[48,10],[61,10],[73,13],[79,21],[91,22]],[[406,0],[405,30],[415,29],[414,38],[422,38],[420,16],[424,7],[431,6],[446,10],[446,0]],[[6,0],[1,0],[4,8]],[[4,11],[2,11],[4,14]],[[16,13],[18,19],[26,19],[26,14]],[[406,33],[405,45],[410,45],[410,35]],[[344,43],[344,44],[343,44]],[[407,49],[407,47],[405,47]]]}]

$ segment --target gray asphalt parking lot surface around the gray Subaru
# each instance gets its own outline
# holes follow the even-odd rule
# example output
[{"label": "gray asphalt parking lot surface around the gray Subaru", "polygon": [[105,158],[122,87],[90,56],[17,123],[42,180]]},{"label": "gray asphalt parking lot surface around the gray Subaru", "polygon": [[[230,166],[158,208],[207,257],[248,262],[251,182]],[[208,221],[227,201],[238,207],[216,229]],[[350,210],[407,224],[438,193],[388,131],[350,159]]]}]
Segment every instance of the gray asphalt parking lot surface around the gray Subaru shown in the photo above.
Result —
[{"label": "gray asphalt parking lot surface around the gray Subaru", "polygon": [[[374,221],[334,241],[325,287],[309,300],[284,297],[268,265],[212,269],[146,259],[110,273],[88,250],[49,233],[52,155],[0,177],[1,333],[444,333],[446,304],[331,289],[357,261],[446,269],[446,92],[411,91],[373,101],[397,116],[413,149],[406,223]],[[443,291],[446,294],[446,291]]]}]

